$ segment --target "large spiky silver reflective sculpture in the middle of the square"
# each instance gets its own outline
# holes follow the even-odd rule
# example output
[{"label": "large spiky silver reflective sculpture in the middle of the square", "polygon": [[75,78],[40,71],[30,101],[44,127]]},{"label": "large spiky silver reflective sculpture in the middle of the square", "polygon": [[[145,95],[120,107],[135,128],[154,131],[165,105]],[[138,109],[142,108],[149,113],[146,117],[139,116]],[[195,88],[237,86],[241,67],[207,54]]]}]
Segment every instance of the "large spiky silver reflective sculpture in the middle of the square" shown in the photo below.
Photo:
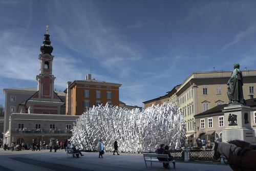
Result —
[{"label": "large spiky silver reflective sculpture in the middle of the square", "polygon": [[96,150],[100,138],[113,151],[117,138],[122,152],[154,152],[161,144],[179,148],[185,142],[183,115],[175,104],[164,103],[140,111],[118,106],[93,106],[76,120],[70,141],[83,150]]}]

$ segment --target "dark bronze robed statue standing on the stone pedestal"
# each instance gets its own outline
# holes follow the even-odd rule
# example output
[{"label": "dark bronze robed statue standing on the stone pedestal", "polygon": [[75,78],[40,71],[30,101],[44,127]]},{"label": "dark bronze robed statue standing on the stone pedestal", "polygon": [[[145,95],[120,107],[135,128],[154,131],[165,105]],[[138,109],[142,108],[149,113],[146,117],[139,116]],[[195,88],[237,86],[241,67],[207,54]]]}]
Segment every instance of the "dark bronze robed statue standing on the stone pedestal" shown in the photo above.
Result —
[{"label": "dark bronze robed statue standing on the stone pedestal", "polygon": [[246,105],[243,95],[243,76],[239,68],[239,63],[234,63],[234,71],[227,82],[227,96],[229,99],[228,103],[236,101]]}]

